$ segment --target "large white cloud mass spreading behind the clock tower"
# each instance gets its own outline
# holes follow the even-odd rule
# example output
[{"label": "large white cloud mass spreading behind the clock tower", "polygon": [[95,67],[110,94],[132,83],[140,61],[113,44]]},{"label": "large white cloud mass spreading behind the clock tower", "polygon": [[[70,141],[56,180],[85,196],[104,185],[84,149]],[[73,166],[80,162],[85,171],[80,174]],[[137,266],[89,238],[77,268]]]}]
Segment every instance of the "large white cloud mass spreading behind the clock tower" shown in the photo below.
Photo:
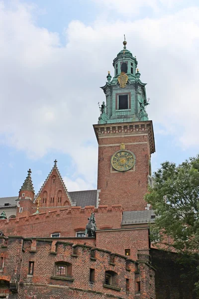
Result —
[{"label": "large white cloud mass spreading behind the clock tower", "polygon": [[98,19],[91,26],[72,21],[66,46],[57,33],[36,26],[32,13],[22,4],[5,9],[1,2],[1,142],[32,158],[50,150],[70,154],[77,171],[67,187],[91,188],[97,170],[92,124],[104,100],[99,86],[108,70],[113,73],[125,32],[141,79],[148,82],[149,118],[173,132],[183,148],[199,146],[199,8],[128,22]]}]

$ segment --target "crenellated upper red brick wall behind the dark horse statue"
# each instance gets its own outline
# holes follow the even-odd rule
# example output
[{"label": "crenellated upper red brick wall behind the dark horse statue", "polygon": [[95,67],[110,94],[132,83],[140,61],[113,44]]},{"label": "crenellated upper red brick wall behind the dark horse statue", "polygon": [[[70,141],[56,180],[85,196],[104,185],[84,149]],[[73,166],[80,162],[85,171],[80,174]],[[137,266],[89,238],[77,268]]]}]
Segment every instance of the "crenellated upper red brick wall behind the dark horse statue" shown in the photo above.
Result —
[{"label": "crenellated upper red brick wall behind the dark horse statue", "polygon": [[55,232],[60,233],[61,237],[75,237],[76,232],[85,231],[92,212],[95,213],[98,229],[120,228],[122,208],[121,205],[114,205],[110,208],[69,207],[29,217],[0,220],[0,230],[5,235],[23,237],[50,237]]}]

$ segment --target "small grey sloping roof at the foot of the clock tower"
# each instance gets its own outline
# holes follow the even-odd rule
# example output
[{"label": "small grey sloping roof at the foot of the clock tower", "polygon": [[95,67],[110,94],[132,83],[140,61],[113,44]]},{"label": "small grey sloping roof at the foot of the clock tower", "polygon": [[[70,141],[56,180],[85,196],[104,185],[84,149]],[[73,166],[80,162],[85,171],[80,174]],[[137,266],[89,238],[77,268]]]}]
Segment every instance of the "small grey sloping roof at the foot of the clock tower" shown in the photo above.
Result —
[{"label": "small grey sloping roof at the foot of the clock tower", "polygon": [[122,224],[149,223],[154,221],[154,210],[123,212]]}]

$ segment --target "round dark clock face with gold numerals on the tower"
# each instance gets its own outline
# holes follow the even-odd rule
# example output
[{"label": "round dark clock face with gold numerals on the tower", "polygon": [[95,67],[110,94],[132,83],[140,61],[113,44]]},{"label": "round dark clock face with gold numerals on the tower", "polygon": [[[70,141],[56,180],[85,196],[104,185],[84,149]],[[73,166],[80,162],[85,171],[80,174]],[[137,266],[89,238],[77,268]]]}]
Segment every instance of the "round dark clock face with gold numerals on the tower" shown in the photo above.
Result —
[{"label": "round dark clock face with gold numerals on the tower", "polygon": [[111,157],[111,165],[117,171],[127,171],[135,165],[135,155],[129,150],[118,150]]}]

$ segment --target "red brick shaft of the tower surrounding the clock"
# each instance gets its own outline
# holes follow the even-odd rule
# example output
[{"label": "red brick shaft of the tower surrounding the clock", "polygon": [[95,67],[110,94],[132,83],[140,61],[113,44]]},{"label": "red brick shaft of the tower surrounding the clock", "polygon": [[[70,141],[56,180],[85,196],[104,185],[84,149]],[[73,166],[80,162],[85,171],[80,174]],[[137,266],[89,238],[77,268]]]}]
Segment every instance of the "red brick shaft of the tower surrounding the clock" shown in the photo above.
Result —
[{"label": "red brick shaft of the tower surrounding the clock", "polygon": [[[129,132],[123,132],[117,137],[109,131],[107,134],[107,130],[98,136],[100,204],[122,204],[124,211],[143,210],[146,207],[144,195],[148,189],[148,175],[150,174],[151,153],[148,131],[142,131],[141,128],[138,132],[131,132],[131,136]],[[110,166],[112,155],[120,150],[122,143],[125,149],[133,152],[136,157],[135,165],[130,171],[115,171]]]}]

